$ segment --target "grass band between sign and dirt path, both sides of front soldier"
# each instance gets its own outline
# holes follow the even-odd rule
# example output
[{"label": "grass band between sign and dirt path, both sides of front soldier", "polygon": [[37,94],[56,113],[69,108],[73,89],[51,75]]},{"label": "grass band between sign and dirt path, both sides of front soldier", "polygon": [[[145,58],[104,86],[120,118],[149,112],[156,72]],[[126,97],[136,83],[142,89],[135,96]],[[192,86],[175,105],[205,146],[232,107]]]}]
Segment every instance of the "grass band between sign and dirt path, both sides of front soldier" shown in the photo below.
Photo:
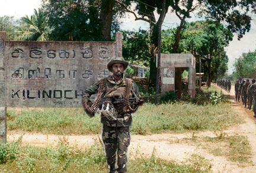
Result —
[{"label": "grass band between sign and dirt path, both sides of front soldier", "polygon": [[[203,88],[203,87],[202,87]],[[145,103],[133,114],[131,132],[149,134],[186,132],[188,130],[224,130],[239,123],[229,102],[212,105],[207,94],[216,88],[206,89],[194,102],[172,102],[154,105]],[[200,99],[201,98],[201,99]],[[82,108],[8,108],[8,130],[45,134],[96,134],[101,132],[100,115],[89,118]]]}]

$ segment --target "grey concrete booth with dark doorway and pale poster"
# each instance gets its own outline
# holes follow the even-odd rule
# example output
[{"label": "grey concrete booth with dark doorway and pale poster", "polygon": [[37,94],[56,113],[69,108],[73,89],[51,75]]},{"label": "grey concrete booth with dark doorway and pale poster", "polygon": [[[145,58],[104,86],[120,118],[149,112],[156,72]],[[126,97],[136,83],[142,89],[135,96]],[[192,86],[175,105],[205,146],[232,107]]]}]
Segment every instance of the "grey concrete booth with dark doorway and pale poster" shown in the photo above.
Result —
[{"label": "grey concrete booth with dark doorway and pale poster", "polygon": [[161,54],[162,92],[175,90],[175,68],[188,68],[188,92],[196,95],[196,58],[191,54]]}]

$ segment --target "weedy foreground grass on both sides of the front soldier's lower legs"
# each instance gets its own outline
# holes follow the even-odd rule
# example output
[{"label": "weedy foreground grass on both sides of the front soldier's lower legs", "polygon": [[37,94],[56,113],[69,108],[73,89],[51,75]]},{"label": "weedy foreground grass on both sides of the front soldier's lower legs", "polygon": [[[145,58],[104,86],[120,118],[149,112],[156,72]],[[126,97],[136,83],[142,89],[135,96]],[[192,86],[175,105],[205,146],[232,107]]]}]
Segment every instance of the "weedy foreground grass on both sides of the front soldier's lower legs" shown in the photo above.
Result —
[{"label": "weedy foreground grass on both sides of the front soldier's lower legs", "polygon": [[[104,149],[95,140],[91,148],[81,151],[59,143],[57,148],[19,146],[19,142],[0,144],[1,172],[107,172]],[[155,158],[129,161],[129,172],[212,172],[212,165],[201,156],[192,155],[180,164]]]}]

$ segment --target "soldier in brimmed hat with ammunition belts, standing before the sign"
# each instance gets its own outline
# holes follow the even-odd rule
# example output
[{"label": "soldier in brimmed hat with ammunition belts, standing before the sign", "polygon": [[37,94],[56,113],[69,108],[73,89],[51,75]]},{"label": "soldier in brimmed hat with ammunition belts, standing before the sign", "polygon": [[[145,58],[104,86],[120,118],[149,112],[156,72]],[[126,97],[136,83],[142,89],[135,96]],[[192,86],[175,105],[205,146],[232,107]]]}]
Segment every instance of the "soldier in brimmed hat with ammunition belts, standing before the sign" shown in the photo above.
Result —
[{"label": "soldier in brimmed hat with ammunition belts, standing before the sign", "polygon": [[[97,98],[94,103],[97,105],[98,98],[118,98],[119,100],[126,100],[127,98],[136,98],[137,107],[143,104],[140,99],[139,89],[132,79],[124,76],[124,70],[129,65],[122,57],[114,57],[107,64],[108,71],[113,75],[101,79],[91,87],[87,88],[83,95],[83,106],[88,116],[94,116],[94,113],[89,107],[89,97],[97,93]],[[104,87],[103,87],[104,86]],[[105,156],[107,164],[110,166],[110,173],[127,172],[127,149],[130,145],[130,125],[132,124],[132,110],[133,108],[125,102],[123,104],[114,104],[109,99],[105,101],[103,107],[109,105],[110,111],[101,112],[101,123],[103,124],[102,139],[105,146]],[[97,105],[98,106],[98,105]],[[114,108],[113,108],[114,107]],[[116,116],[113,118],[113,113]],[[117,152],[117,166],[116,169],[116,152]]]}]

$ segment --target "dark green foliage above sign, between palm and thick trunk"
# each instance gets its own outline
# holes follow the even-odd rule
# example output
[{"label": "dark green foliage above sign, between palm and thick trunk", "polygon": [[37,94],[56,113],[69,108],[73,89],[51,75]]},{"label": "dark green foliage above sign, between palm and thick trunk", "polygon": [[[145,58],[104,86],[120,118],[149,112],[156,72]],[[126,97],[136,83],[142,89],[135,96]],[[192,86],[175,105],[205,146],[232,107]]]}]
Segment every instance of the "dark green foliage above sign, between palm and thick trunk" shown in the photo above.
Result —
[{"label": "dark green foliage above sign, between palm and thick trunk", "polygon": [[100,34],[99,1],[44,0],[51,28],[50,40],[98,41]]}]

